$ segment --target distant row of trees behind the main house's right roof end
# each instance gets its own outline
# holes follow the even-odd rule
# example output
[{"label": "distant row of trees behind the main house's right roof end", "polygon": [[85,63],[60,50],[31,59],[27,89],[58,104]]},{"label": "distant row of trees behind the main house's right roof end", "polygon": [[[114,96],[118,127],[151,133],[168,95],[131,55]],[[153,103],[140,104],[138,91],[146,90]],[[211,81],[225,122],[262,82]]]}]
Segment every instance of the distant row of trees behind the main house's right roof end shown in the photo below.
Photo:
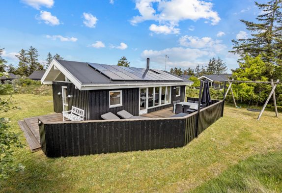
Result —
[{"label": "distant row of trees behind the main house's right roof end", "polygon": [[200,67],[199,64],[192,69],[187,68],[186,70],[182,70],[181,68],[170,68],[169,72],[180,75],[190,75],[200,77],[202,75],[211,75],[211,74],[225,74],[227,72],[226,62],[224,62],[220,57],[211,58],[206,66],[202,65]]}]

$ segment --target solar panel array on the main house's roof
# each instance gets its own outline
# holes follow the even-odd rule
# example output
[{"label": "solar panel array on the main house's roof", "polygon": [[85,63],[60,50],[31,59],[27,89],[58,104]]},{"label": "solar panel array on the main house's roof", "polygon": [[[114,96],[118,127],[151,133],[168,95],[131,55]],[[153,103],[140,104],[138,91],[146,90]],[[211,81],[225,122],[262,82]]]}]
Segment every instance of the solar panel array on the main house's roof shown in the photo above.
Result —
[{"label": "solar panel array on the main house's roof", "polygon": [[182,81],[182,79],[161,70],[95,63],[88,63],[88,65],[113,81]]}]

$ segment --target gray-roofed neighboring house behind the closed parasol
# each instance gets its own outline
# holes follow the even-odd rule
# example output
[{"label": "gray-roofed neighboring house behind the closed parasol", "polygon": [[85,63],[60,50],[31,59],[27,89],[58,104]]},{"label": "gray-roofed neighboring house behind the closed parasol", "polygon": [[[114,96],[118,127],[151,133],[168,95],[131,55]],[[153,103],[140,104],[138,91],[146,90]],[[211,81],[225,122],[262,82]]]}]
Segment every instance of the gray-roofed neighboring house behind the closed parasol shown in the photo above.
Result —
[{"label": "gray-roofed neighboring house behind the closed parasol", "polygon": [[209,86],[213,88],[223,88],[224,82],[227,81],[232,74],[212,74],[212,75],[203,75],[198,78],[198,80],[204,81],[207,79],[209,81]]}]

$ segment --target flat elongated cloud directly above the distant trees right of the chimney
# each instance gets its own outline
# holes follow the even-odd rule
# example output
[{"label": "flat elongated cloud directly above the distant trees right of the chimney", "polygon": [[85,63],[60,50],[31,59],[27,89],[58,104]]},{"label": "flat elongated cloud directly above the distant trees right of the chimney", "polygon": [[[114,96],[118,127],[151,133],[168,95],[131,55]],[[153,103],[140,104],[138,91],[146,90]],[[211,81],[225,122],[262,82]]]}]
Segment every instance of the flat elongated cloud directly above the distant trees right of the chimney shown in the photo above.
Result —
[{"label": "flat elongated cloud directly above the distant trees right of the chimney", "polygon": [[226,48],[221,40],[213,40],[211,37],[199,38],[185,35],[179,38],[179,43],[181,46],[203,49],[210,53],[219,53]]}]

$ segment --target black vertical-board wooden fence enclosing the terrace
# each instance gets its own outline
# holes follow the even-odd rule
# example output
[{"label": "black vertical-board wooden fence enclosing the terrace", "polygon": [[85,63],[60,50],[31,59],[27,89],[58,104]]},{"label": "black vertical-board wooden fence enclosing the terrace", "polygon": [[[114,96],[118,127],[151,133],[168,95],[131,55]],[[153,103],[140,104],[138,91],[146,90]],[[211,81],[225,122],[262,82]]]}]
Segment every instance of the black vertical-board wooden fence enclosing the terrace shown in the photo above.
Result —
[{"label": "black vertical-board wooden fence enclosing the terrace", "polygon": [[47,122],[39,119],[48,157],[182,147],[222,116],[223,101],[185,117]]}]

